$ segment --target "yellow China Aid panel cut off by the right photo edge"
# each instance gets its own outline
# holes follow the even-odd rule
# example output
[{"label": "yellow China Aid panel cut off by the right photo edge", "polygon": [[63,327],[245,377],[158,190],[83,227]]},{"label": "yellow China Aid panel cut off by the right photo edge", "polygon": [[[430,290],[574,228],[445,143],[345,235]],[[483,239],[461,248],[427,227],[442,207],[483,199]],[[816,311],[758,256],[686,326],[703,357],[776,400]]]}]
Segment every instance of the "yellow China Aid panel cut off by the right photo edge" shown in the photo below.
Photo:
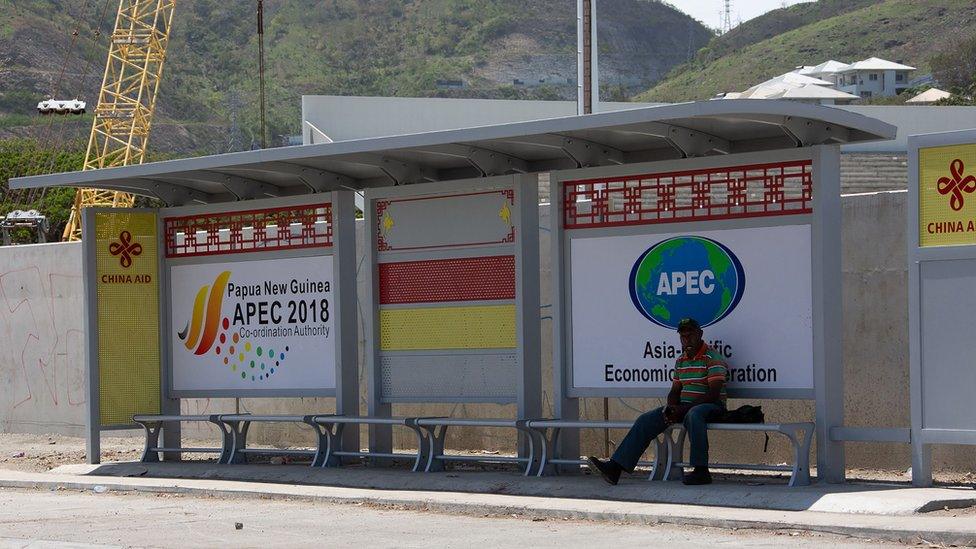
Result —
[{"label": "yellow China Aid panel cut off by the right photo edge", "polygon": [[976,144],[918,151],[921,247],[976,244]]}]

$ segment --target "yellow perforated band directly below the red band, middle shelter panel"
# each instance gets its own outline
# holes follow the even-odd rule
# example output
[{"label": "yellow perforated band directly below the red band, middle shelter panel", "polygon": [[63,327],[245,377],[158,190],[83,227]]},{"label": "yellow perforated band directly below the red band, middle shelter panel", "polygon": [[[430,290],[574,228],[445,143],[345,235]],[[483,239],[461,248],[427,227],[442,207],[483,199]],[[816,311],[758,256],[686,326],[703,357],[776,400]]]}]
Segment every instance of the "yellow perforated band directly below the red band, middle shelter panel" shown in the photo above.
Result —
[{"label": "yellow perforated band directly below the red band, middle shelter panel", "polygon": [[514,349],[515,306],[432,307],[380,311],[380,348]]}]

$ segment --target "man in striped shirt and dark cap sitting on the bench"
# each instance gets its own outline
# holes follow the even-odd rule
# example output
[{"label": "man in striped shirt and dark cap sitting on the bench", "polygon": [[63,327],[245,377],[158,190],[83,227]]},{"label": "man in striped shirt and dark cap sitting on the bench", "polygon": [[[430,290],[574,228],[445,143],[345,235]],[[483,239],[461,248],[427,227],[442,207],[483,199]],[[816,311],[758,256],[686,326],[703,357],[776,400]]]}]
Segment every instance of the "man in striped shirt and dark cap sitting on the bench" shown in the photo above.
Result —
[{"label": "man in striped shirt and dark cap sitting on the bench", "polygon": [[678,323],[683,351],[675,364],[674,382],[668,393],[668,405],[642,414],[630,432],[607,461],[588,458],[590,467],[596,469],[610,484],[617,484],[620,472],[634,472],[641,454],[668,425],[684,422],[691,441],[691,465],[694,470],[685,473],[685,484],[709,484],[708,434],[705,424],[718,419],[725,412],[725,382],[728,367],[721,355],[702,341],[702,329],[693,318]]}]

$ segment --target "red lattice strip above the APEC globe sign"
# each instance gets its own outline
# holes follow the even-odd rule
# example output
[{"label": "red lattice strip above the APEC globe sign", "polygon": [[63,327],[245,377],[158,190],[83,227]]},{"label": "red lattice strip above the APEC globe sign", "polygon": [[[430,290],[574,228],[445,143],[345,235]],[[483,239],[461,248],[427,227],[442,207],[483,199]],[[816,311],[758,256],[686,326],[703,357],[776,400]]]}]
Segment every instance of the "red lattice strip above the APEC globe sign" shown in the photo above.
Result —
[{"label": "red lattice strip above the APEC globe sign", "polygon": [[567,181],[564,227],[807,214],[813,211],[812,166],[800,160]]}]

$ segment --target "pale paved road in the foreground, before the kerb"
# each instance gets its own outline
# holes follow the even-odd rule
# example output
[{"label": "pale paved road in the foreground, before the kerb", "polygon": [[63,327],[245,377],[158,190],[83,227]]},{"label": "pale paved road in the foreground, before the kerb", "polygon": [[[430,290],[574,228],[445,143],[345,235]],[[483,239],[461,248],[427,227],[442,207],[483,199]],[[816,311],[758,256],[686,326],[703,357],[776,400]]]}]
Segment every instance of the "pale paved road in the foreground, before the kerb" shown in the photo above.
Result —
[{"label": "pale paved road in the foreground, before the kerb", "polygon": [[[235,523],[243,528],[237,530]],[[436,541],[435,541],[436,540]],[[882,547],[816,534],[469,517],[370,505],[0,489],[6,547]]]}]

